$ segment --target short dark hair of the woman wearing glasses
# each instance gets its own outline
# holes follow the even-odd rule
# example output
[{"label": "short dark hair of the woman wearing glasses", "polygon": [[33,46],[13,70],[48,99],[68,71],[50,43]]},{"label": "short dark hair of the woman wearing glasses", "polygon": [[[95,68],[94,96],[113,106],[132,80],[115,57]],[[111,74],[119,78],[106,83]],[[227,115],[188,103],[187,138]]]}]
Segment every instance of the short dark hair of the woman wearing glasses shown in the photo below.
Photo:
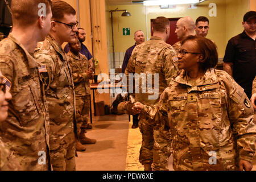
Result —
[{"label": "short dark hair of the woman wearing glasses", "polygon": [[200,67],[206,71],[208,68],[216,67],[218,63],[218,52],[216,44],[212,40],[204,38],[202,36],[189,35],[181,40],[181,45],[185,42],[192,40],[197,43],[197,48],[201,55],[203,55],[203,60],[200,62]]}]

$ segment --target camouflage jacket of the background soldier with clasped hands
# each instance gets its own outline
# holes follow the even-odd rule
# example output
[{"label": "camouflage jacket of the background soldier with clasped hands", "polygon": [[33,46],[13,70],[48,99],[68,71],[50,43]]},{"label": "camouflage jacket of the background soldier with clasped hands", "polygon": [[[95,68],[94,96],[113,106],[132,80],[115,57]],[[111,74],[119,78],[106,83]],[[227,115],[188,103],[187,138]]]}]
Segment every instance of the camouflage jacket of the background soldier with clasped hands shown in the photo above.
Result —
[{"label": "camouflage jacket of the background soldier with clasped hands", "polygon": [[81,53],[76,56],[74,53],[69,51],[68,56],[70,65],[72,65],[76,96],[85,96],[90,94],[90,82],[86,75],[86,71],[90,67],[89,61]]}]

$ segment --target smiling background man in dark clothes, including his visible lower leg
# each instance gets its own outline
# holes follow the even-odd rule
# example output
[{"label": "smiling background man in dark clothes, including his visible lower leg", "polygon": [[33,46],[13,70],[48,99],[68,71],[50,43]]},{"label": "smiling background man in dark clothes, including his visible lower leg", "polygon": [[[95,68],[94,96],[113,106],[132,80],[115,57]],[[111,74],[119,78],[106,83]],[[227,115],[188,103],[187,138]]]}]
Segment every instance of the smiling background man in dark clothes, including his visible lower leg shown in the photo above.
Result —
[{"label": "smiling background man in dark clothes, including his visible lower leg", "polygon": [[[123,59],[123,65],[122,65],[122,73],[125,73],[125,69],[127,67],[128,61],[131,57],[131,53],[133,52],[133,49],[135,48],[135,46],[145,42],[143,31],[141,31],[141,30],[135,31],[134,32],[134,40],[135,40],[135,44],[133,46],[129,47],[125,52],[125,58]],[[137,127],[139,127],[138,117],[139,117],[139,114],[133,115],[133,126],[131,126],[131,128],[136,129]]]}]

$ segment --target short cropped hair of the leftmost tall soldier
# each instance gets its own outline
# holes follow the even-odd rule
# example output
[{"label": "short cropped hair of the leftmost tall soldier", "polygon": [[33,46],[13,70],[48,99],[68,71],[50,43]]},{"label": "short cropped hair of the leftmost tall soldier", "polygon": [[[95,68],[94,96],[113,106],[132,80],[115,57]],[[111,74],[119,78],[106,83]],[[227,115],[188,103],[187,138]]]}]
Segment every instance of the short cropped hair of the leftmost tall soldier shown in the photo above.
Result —
[{"label": "short cropped hair of the leftmost tall soldier", "polygon": [[51,12],[51,0],[13,0],[11,1],[11,13],[13,23],[20,26],[30,26],[39,18],[38,5],[44,3],[46,5],[46,15]]}]

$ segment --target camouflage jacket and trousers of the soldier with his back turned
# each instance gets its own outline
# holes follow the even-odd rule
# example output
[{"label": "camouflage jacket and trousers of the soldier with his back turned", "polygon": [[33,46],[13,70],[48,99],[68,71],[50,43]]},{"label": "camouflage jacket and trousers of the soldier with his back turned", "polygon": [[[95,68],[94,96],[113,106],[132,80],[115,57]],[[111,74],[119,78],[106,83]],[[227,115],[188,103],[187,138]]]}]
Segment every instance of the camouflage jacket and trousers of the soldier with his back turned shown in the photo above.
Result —
[{"label": "camouflage jacket and trousers of the soldier with his back turned", "polygon": [[[154,89],[157,88],[157,86],[154,85],[154,74],[156,73],[159,76],[159,79],[157,80],[159,89],[156,90],[155,93],[150,93],[148,92],[148,90],[146,93],[142,93],[142,86],[150,85],[148,84],[148,82],[151,81],[147,80],[147,84],[144,85],[143,82],[141,82],[140,80],[138,84],[139,93],[133,92],[135,93],[135,100],[145,105],[155,105],[156,103],[158,103],[160,94],[168,86],[168,82],[170,81],[170,79],[174,76],[177,76],[178,68],[176,66],[176,61],[176,52],[174,51],[174,49],[172,49],[170,44],[167,44],[161,38],[153,36],[147,42],[136,46],[130,57],[129,63],[125,71],[125,75],[129,80],[129,73],[146,73],[147,77],[152,74],[152,89]],[[127,83],[129,84],[129,81],[127,81]],[[133,91],[129,88],[128,90],[129,92]],[[154,94],[157,94],[156,97],[150,98]],[[168,169],[168,162],[160,164],[159,158],[156,157],[159,155],[159,152],[161,150],[166,150],[164,149],[164,146],[162,146],[162,144],[158,143],[160,142],[160,140],[158,138],[157,130],[160,129],[160,126],[158,125],[158,123],[150,125],[147,120],[147,115],[139,115],[139,129],[142,133],[142,146],[139,155],[139,161],[143,165],[152,163],[152,169],[154,170]]]}]

